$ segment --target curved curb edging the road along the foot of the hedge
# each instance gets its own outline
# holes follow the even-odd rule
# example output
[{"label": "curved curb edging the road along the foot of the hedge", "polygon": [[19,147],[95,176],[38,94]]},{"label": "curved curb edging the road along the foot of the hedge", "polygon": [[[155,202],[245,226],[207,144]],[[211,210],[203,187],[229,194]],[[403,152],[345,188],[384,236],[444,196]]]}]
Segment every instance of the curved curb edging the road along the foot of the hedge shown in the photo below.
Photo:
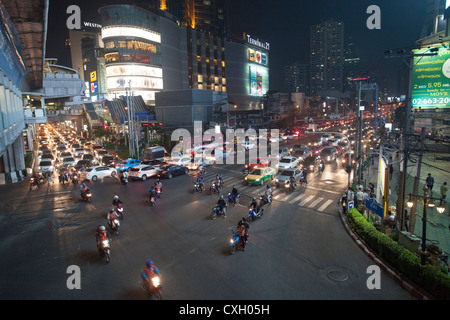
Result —
[{"label": "curved curb edging the road along the foot of the hedge", "polygon": [[378,257],[369,247],[366,246],[364,241],[354,232],[353,228],[348,224],[347,219],[342,215],[341,210],[339,216],[342,224],[345,226],[347,233],[352,237],[356,244],[364,251],[364,253],[372,259],[381,269],[383,269],[391,278],[400,283],[400,285],[408,290],[413,296],[419,300],[435,300],[430,294],[425,293],[423,289],[419,289],[417,286],[411,284],[410,280],[407,280],[400,276],[393,268],[391,268],[383,259]]}]

